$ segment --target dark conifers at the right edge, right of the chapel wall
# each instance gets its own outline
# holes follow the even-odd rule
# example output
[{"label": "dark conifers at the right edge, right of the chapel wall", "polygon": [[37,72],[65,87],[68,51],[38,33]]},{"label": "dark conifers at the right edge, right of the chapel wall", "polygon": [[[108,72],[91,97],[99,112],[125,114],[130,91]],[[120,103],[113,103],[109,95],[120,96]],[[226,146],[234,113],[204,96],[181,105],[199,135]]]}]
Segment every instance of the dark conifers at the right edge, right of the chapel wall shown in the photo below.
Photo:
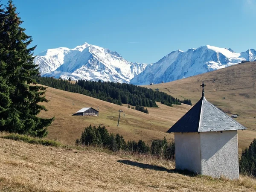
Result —
[{"label": "dark conifers at the right edge, right of the chapel wall", "polygon": [[239,172],[244,175],[256,176],[256,139],[253,140],[249,148],[242,150]]}]

